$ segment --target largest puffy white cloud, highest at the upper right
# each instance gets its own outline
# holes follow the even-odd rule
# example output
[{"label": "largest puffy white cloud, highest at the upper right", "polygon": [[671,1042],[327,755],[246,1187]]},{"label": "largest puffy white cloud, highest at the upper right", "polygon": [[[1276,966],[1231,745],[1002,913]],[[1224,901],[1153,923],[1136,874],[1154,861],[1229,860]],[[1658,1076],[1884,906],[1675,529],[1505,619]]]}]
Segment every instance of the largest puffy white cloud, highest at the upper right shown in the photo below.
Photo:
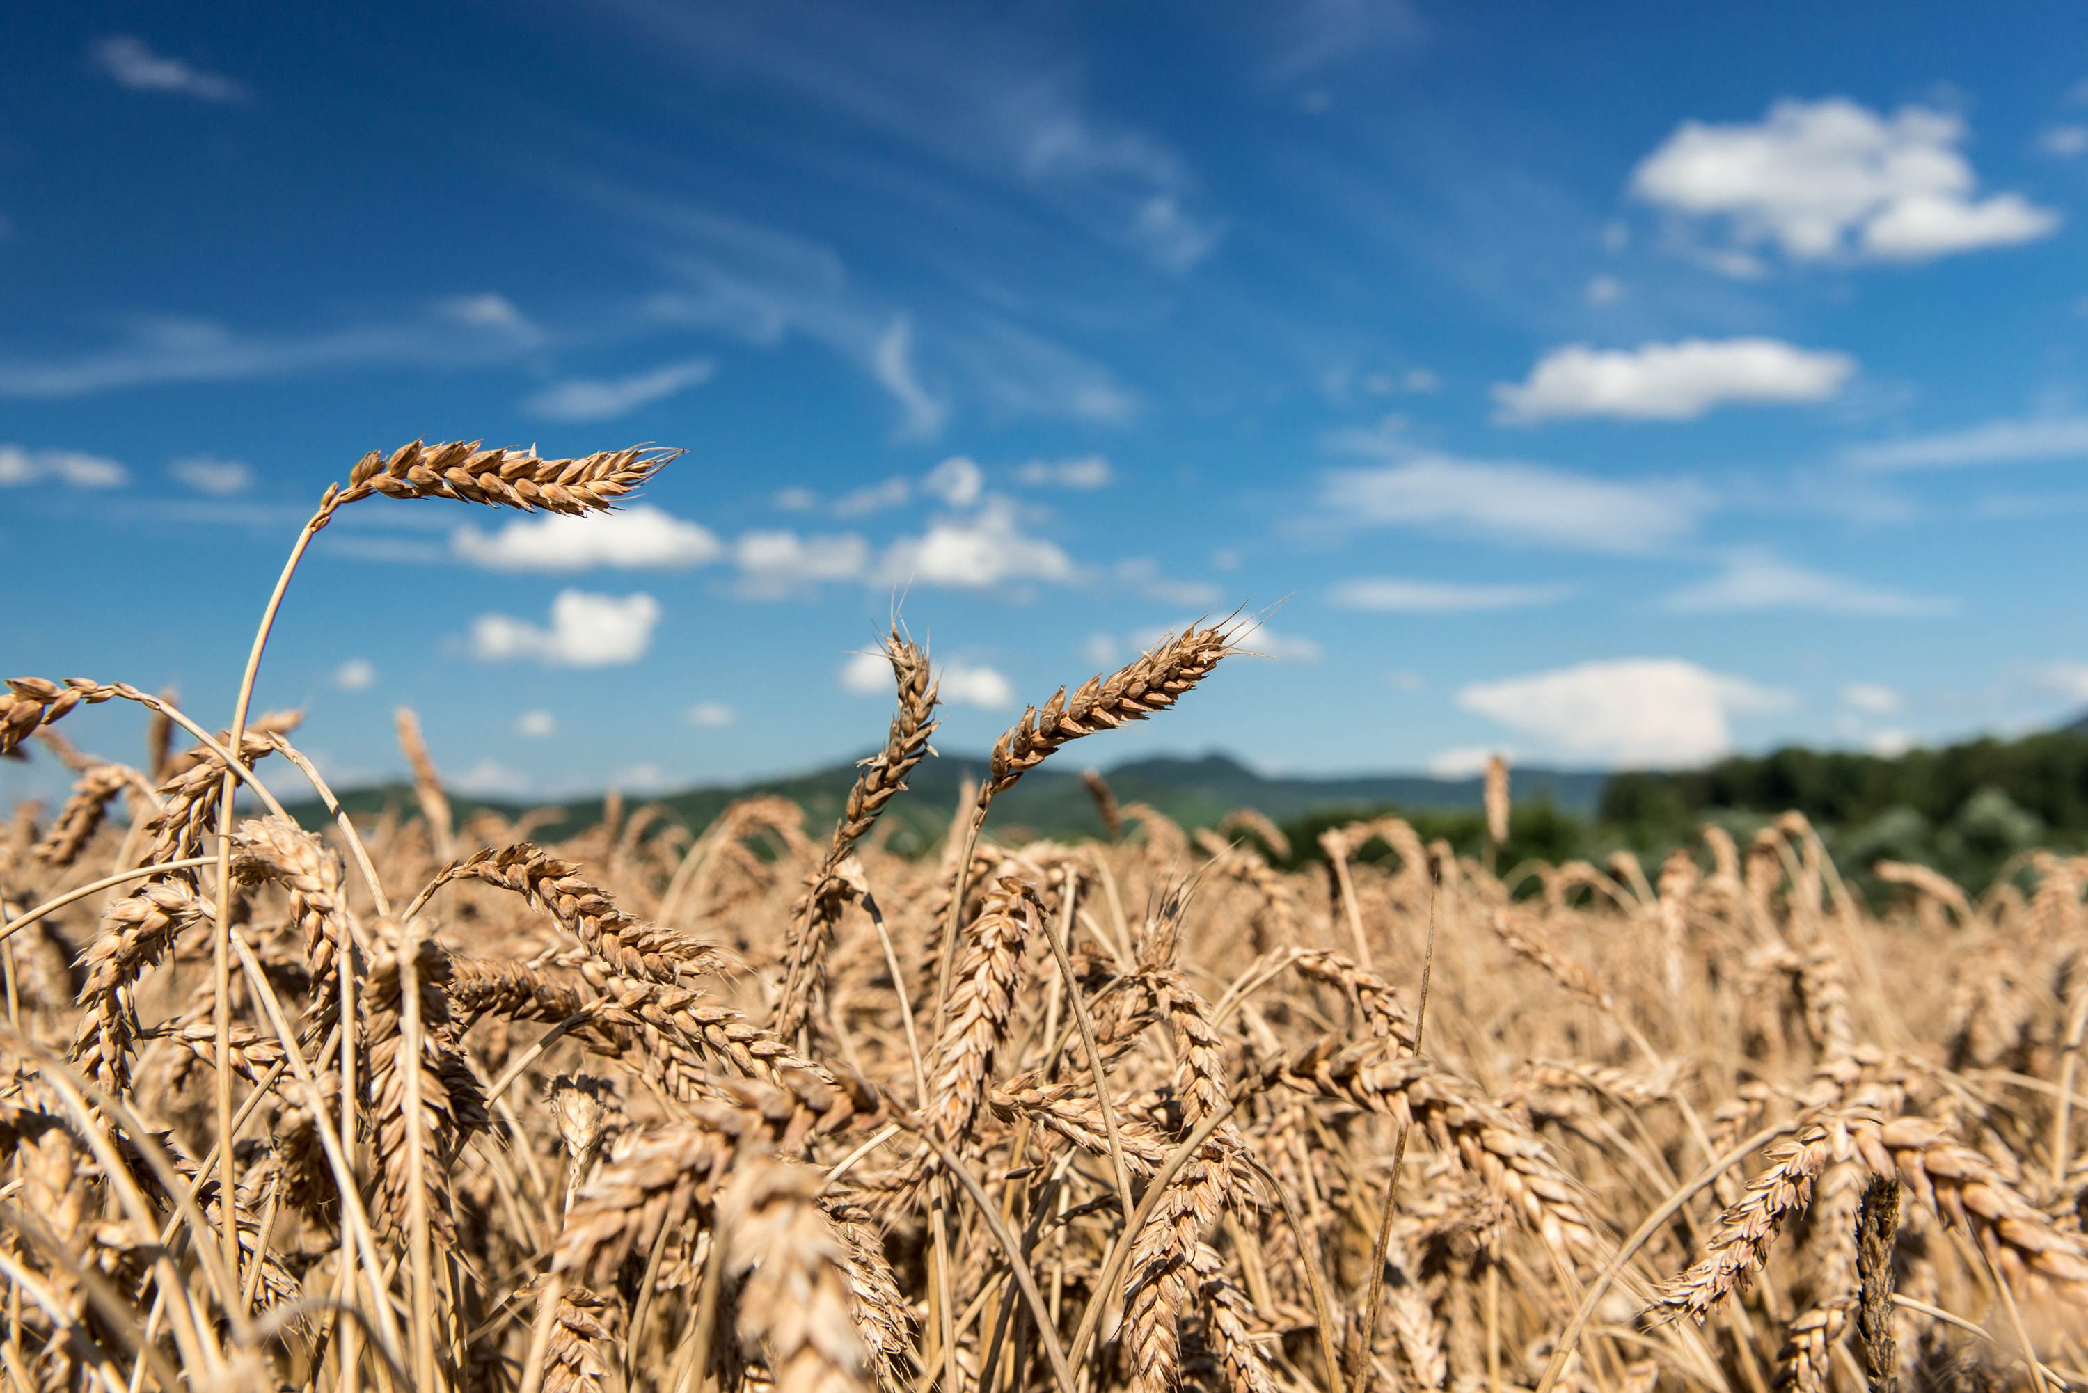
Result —
[{"label": "largest puffy white cloud, highest at the upper right", "polygon": [[1975,200],[1963,142],[1965,123],[1927,107],[1888,119],[1840,96],[1783,100],[1756,125],[1683,121],[1633,171],[1631,192],[1723,217],[1741,246],[1777,242],[1798,261],[1927,261],[2059,228],[2059,213],[2021,194]]}]

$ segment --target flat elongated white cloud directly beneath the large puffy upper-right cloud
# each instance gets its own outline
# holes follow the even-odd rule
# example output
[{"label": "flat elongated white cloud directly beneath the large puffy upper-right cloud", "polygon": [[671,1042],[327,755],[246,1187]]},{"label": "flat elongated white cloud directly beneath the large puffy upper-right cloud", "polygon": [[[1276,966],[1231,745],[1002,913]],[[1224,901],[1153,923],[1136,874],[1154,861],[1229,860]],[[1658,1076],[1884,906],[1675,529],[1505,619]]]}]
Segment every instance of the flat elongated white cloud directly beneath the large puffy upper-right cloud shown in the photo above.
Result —
[{"label": "flat elongated white cloud directly beneath the large puffy upper-right cloud", "polygon": [[1721,405],[1827,401],[1854,372],[1848,353],[1798,349],[1781,338],[1683,338],[1637,349],[1576,343],[1545,353],[1526,382],[1497,382],[1493,399],[1503,422],[1695,420]]}]

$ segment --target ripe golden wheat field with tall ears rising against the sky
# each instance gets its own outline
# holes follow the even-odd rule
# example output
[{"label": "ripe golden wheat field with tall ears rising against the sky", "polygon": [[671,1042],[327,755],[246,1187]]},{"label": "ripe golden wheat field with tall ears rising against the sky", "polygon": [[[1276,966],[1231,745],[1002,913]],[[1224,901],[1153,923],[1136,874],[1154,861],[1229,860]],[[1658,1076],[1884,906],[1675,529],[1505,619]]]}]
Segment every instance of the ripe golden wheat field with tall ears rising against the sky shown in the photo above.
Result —
[{"label": "ripe golden wheat field with tall ears rising against the sky", "polygon": [[[230,725],[8,683],[0,752],[77,771],[0,837],[15,1389],[2088,1387],[2088,860],[1881,865],[1873,908],[1796,814],[1658,867],[1386,817],[1288,873],[1257,812],[1092,775],[1107,840],[996,835],[1242,622],[1027,710],[923,856],[879,821],[933,756],[898,624],[831,829],[453,825],[409,712],[416,806],[357,823],[248,710],[340,507],[599,512],[670,457],[367,455]],[[81,754],[102,702],[138,766]]]}]

